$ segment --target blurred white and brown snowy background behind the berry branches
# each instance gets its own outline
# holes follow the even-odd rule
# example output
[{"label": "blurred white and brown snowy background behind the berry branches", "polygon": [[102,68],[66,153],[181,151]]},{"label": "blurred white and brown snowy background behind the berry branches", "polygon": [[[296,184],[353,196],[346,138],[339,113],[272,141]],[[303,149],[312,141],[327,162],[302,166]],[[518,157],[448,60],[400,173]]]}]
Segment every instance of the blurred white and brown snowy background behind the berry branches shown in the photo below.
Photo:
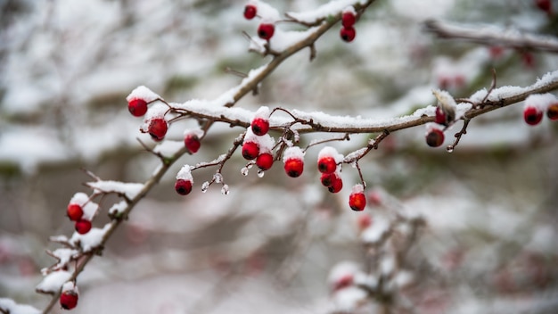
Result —
[{"label": "blurred white and brown snowy background behind the berry branches", "polygon": [[[322,3],[270,1],[282,12]],[[0,297],[39,309],[47,302],[34,287],[53,263],[48,236],[72,232],[64,217],[70,197],[89,192],[80,168],[106,179],[149,178],[158,161],[136,141],[150,140],[127,112],[133,88],[145,85],[172,102],[213,99],[240,81],[226,68],[248,72],[265,62],[247,52],[242,30],[255,34],[258,22],[242,17],[243,5],[0,0]],[[379,0],[357,22],[353,43],[334,27],[318,40],[314,62],[300,52],[237,105],[393,117],[434,103],[434,87],[472,95],[489,86],[493,67],[498,86],[527,86],[558,69],[555,54],[440,40],[423,21],[555,37],[557,16],[525,0]],[[447,132],[446,144],[459,128]],[[346,167],[345,189],[329,194],[313,172],[317,149],[299,179],[277,164],[264,178],[255,171],[244,178],[237,154],[224,172],[231,194],[174,192],[182,164],[213,160],[240,132],[211,128],[201,151],[178,161],[140,202],[78,278],[74,312],[327,313],[340,306],[328,284],[332,267],[349,260],[366,269],[359,215],[347,204],[357,171]],[[181,136],[177,127],[168,134]],[[473,120],[454,153],[427,147],[423,136],[421,127],[393,134],[361,163],[369,190],[392,194],[427,222],[409,252],[414,284],[402,293],[423,313],[555,312],[558,125],[528,127],[520,103]],[[348,153],[367,136],[351,139],[334,145]],[[381,221],[386,211],[369,204],[365,213]]]}]

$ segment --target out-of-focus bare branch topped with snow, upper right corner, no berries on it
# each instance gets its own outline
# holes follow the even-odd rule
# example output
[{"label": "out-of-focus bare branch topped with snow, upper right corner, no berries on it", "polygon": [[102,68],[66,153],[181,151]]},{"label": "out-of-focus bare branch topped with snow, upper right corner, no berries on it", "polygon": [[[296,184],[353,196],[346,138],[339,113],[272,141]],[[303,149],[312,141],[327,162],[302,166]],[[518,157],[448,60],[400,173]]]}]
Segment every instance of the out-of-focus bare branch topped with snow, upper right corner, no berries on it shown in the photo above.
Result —
[{"label": "out-of-focus bare branch topped with snow, upper right corner, no berries on it", "polygon": [[503,45],[516,49],[542,50],[558,53],[558,38],[523,33],[518,29],[493,26],[471,27],[444,21],[425,21],[426,30],[441,38],[465,39],[482,45]]}]

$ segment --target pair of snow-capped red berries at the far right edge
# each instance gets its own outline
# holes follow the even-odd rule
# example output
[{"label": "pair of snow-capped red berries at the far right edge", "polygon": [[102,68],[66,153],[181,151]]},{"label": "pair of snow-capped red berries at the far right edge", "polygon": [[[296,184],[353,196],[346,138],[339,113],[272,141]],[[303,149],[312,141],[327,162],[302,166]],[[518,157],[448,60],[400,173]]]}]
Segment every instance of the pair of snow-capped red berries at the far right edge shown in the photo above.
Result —
[{"label": "pair of snow-capped red berries at the far right edge", "polygon": [[550,120],[558,120],[558,98],[552,94],[529,95],[525,99],[523,120],[529,126],[536,126],[543,120],[543,114]]}]

